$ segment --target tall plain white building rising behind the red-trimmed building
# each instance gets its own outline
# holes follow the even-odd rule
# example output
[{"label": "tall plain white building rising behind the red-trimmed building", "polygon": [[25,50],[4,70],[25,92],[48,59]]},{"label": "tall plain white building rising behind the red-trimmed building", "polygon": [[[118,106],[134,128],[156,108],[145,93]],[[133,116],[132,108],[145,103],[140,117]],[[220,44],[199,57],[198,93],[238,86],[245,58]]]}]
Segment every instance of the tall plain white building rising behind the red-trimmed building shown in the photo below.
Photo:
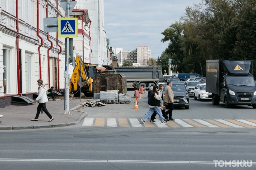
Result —
[{"label": "tall plain white building rising behind the red-trimmed building", "polygon": [[104,31],[104,0],[77,0],[78,9],[87,9],[91,23],[91,64],[97,67],[108,62]]}]

